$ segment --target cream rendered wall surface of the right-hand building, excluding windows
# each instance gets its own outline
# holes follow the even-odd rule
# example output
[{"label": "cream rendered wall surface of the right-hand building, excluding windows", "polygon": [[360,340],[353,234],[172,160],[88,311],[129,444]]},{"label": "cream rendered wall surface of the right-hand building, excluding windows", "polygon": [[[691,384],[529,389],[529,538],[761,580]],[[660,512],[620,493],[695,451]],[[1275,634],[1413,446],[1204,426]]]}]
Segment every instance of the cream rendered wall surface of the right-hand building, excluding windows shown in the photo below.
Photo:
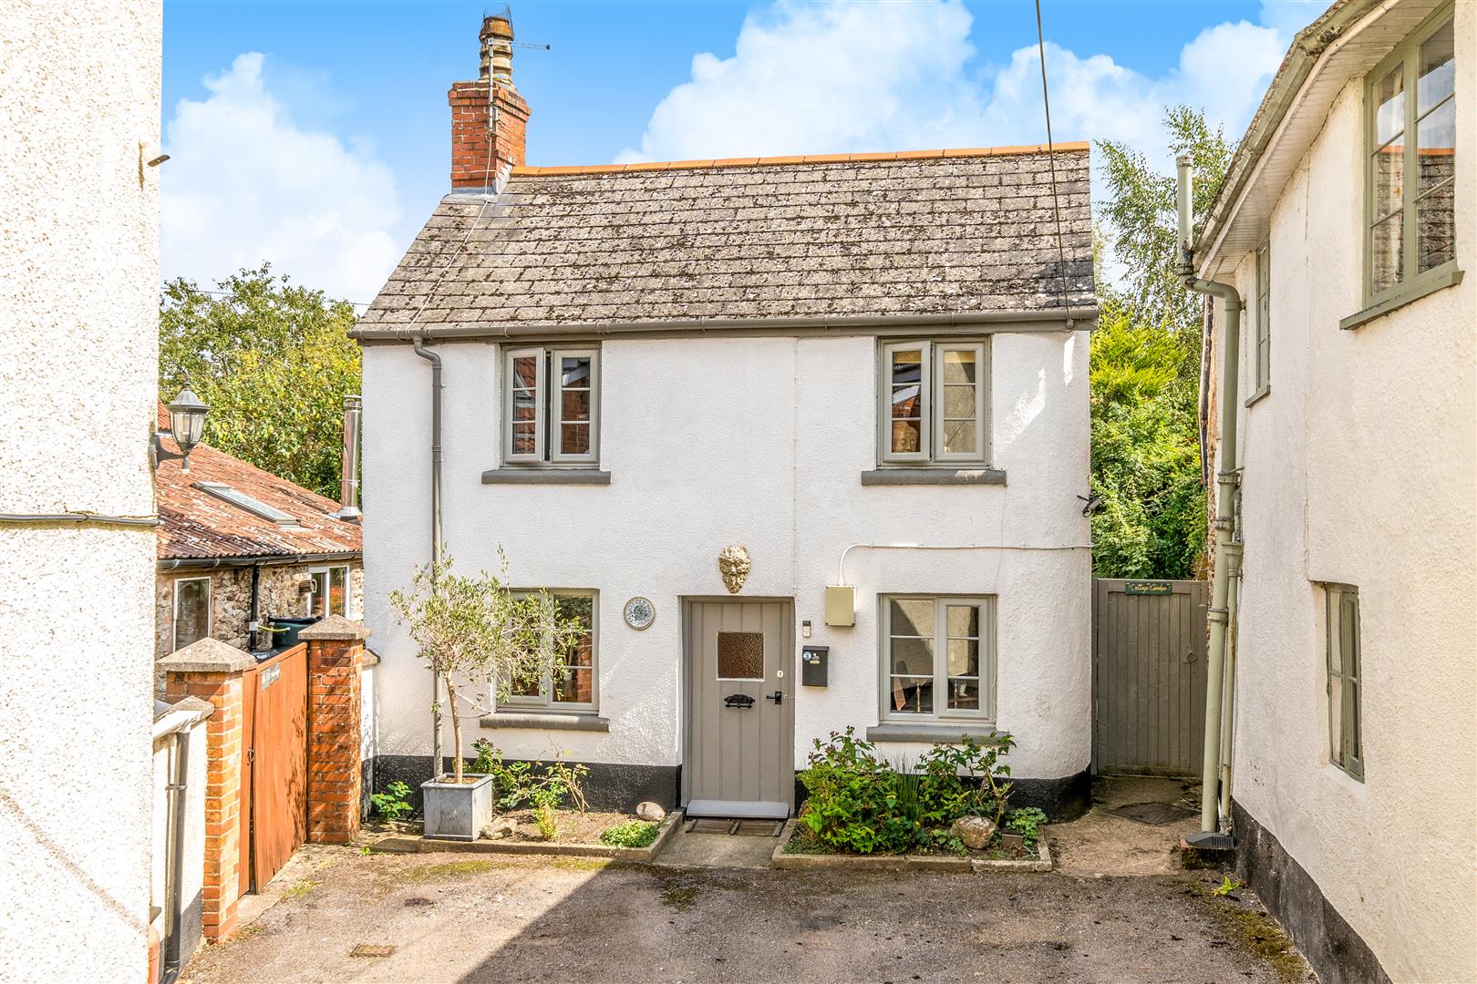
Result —
[{"label": "cream rendered wall surface of the right-hand building, excluding windows", "polygon": [[[1239,432],[1235,798],[1396,981],[1477,980],[1474,37],[1477,6],[1459,3],[1467,280],[1340,330],[1362,308],[1350,84],[1272,215],[1272,392]],[[1247,257],[1235,279],[1247,298],[1252,268]],[[1244,395],[1252,338],[1247,325]],[[1329,764],[1319,581],[1359,587],[1363,782]]]}]

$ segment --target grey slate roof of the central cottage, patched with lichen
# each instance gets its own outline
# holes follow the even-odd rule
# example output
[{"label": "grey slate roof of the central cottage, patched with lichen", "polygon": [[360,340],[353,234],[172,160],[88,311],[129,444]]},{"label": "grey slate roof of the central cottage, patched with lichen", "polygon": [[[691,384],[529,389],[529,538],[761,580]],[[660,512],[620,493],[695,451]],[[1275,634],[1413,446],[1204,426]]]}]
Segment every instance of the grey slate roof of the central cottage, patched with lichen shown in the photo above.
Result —
[{"label": "grey slate roof of the central cottage, patched with lichen", "polygon": [[[490,202],[442,201],[354,333],[1056,308],[1050,167],[1032,146],[514,168]],[[1081,308],[1087,145],[1058,145],[1056,189]]]}]

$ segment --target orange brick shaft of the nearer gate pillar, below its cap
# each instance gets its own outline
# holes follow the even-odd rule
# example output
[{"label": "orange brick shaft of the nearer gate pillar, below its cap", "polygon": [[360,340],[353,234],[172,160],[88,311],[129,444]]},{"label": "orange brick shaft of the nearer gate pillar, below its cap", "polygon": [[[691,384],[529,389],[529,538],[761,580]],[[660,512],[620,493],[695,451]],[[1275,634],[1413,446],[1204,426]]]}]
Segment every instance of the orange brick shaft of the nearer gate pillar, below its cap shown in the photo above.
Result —
[{"label": "orange brick shaft of the nearer gate pillar, below its cap", "polygon": [[241,887],[241,773],[245,767],[245,717],[241,671],[170,671],[168,701],[196,696],[214,705],[205,724],[205,938],[220,943],[236,928]]}]

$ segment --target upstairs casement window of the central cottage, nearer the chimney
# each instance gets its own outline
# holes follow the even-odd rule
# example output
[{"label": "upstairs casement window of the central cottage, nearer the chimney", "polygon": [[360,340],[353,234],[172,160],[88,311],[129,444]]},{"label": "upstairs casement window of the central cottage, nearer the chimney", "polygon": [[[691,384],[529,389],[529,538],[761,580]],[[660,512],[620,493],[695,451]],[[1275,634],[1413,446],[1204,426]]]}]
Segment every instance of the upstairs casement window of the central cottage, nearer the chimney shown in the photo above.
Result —
[{"label": "upstairs casement window of the central cottage, nearer the chimney", "polygon": [[600,350],[510,348],[504,364],[502,460],[598,460]]}]

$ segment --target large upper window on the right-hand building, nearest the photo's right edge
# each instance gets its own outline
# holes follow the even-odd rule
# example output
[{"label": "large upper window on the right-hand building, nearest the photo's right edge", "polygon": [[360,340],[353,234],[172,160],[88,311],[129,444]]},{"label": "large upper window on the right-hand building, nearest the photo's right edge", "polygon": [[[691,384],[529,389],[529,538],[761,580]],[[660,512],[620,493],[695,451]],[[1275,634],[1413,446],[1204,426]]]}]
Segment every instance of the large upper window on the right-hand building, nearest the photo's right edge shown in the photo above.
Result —
[{"label": "large upper window on the right-hand building, nearest the photo's right edge", "polygon": [[[1450,282],[1456,270],[1455,4],[1365,80],[1365,304]],[[1413,137],[1413,139],[1412,139]]]}]

